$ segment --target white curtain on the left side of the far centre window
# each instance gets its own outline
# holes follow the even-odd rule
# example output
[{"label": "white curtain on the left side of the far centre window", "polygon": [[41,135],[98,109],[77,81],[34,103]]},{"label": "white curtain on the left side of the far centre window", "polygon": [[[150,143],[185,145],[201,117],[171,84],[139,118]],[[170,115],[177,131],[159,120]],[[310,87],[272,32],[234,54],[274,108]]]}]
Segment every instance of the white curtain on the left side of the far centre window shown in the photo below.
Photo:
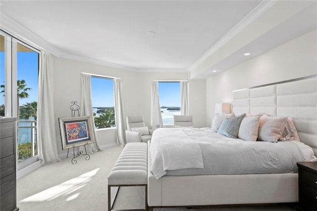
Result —
[{"label": "white curtain on the left side of the far centre window", "polygon": [[163,126],[162,114],[159,106],[159,82],[152,81],[152,127],[155,124]]}]

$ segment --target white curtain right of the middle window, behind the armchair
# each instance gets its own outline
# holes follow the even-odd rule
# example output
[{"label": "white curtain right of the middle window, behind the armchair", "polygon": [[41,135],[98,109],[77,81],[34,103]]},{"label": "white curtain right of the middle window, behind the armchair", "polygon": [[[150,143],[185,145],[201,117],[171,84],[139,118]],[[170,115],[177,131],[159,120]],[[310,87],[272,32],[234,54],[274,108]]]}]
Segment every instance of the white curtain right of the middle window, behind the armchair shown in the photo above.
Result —
[{"label": "white curtain right of the middle window, behind the armchair", "polygon": [[117,130],[117,144],[121,147],[124,147],[125,145],[125,138],[124,138],[124,132],[125,132],[125,114],[124,114],[124,108],[123,108],[123,98],[122,98],[122,92],[121,92],[121,79],[115,78],[113,79],[113,85],[114,85],[114,112],[115,112],[115,124],[116,124],[116,130]]}]

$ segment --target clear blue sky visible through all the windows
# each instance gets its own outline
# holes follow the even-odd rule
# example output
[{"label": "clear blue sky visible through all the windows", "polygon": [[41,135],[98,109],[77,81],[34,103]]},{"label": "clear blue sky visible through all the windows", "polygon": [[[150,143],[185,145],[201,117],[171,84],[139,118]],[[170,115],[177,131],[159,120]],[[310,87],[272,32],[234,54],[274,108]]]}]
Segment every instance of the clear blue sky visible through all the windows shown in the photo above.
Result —
[{"label": "clear blue sky visible through all the windows", "polygon": [[[38,101],[38,53],[19,52],[17,55],[17,79],[25,80],[29,98],[19,99],[19,104],[24,105]],[[4,84],[4,53],[0,53],[0,83]],[[113,107],[113,80],[92,77],[92,101],[93,107]],[[159,82],[160,106],[180,106],[180,83]],[[4,104],[3,95],[0,96],[0,104]]]}]

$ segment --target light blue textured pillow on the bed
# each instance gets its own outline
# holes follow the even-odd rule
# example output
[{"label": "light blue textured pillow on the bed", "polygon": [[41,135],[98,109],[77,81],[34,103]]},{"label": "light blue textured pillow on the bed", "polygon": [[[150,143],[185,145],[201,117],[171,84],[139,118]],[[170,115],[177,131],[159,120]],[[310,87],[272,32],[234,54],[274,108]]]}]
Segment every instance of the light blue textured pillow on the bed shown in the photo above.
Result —
[{"label": "light blue textured pillow on the bed", "polygon": [[242,114],[237,117],[224,119],[221,123],[217,133],[225,135],[229,138],[236,139],[238,138],[239,127],[246,114]]}]

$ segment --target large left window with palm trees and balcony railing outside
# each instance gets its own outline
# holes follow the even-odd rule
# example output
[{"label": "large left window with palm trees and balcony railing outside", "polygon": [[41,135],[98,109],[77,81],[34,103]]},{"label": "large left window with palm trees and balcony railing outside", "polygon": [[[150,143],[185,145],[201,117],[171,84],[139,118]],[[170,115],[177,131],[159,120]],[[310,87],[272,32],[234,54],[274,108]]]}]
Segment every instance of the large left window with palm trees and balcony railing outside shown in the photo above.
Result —
[{"label": "large left window with palm trees and balcony railing outside", "polygon": [[37,155],[39,51],[1,33],[1,115],[17,117],[18,162]]}]

